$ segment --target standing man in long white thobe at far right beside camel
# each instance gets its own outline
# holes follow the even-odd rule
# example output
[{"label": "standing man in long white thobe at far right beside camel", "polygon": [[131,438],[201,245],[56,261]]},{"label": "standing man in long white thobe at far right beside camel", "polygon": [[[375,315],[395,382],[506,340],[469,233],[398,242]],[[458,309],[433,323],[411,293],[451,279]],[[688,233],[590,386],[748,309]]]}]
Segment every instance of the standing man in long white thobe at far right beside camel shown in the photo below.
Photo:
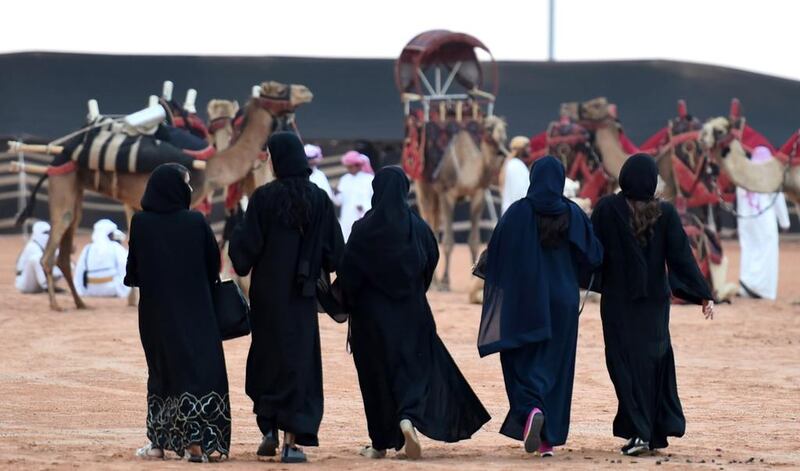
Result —
[{"label": "standing man in long white thobe at far right beside camel", "polygon": [[[753,150],[753,163],[772,159],[763,146]],[[783,193],[753,193],[736,189],[736,211],[741,259],[739,294],[752,298],[778,297],[778,226],[789,229],[789,211]]]}]

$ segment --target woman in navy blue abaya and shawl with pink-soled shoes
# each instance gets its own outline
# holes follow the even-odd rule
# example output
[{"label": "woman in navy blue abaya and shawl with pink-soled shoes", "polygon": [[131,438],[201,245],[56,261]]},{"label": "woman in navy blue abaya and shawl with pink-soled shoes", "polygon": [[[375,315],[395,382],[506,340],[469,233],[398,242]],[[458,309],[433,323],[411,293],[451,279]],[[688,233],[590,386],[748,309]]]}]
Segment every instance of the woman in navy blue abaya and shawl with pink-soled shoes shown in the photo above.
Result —
[{"label": "woman in navy blue abaya and shawl with pink-soled shoes", "polygon": [[542,456],[567,440],[579,279],[602,260],[589,219],[563,192],[561,162],[538,160],[528,195],[503,214],[489,242],[478,333],[481,356],[500,352],[509,402],[500,433]]}]

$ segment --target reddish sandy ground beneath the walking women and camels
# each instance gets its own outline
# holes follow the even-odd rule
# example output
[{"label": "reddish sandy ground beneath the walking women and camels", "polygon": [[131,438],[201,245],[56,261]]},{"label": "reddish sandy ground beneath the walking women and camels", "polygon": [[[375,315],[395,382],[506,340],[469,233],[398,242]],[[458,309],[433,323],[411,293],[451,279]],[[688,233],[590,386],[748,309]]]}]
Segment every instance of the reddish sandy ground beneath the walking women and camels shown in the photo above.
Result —
[{"label": "reddish sandy ground beneath the walking women and camels", "polygon": [[[85,241],[85,238],[84,238]],[[0,238],[0,468],[177,469],[186,462],[141,462],[146,442],[146,366],[136,310],[121,300],[89,300],[93,309],[48,310],[46,296],[13,288],[19,237]],[[736,279],[737,247],[727,244]],[[686,436],[664,453],[624,458],[611,435],[614,390],[603,360],[597,304],[581,318],[572,427],[554,458],[526,455],[497,433],[507,401],[499,359],[479,359],[475,337],[480,311],[468,305],[468,255],[458,247],[454,291],[432,293],[439,333],[492,415],[472,440],[439,444],[424,439],[425,460],[391,452],[382,461],[357,455],[368,443],[361,397],[346,328],[321,322],[325,416],[320,448],[309,448],[304,468],[512,469],[520,465],[563,469],[800,468],[800,244],[781,248],[778,302],[737,300],[720,306],[714,321],[696,307],[673,310],[679,392],[688,420]],[[71,307],[67,295],[63,306]],[[287,469],[258,463],[260,434],[244,394],[248,338],[225,343],[233,409],[231,459],[220,468]]]}]

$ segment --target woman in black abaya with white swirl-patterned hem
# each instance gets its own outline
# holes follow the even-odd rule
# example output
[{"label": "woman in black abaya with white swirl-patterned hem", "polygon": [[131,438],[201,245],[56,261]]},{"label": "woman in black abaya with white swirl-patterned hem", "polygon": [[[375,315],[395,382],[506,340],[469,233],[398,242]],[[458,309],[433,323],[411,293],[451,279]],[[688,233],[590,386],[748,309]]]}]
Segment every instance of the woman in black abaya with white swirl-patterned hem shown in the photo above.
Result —
[{"label": "woman in black abaya with white swirl-patterned hem", "polygon": [[147,359],[147,438],[137,451],[191,461],[227,456],[228,377],[211,287],[219,249],[203,215],[189,211],[189,171],[156,168],[131,220],[125,284],[138,286],[139,334]]}]

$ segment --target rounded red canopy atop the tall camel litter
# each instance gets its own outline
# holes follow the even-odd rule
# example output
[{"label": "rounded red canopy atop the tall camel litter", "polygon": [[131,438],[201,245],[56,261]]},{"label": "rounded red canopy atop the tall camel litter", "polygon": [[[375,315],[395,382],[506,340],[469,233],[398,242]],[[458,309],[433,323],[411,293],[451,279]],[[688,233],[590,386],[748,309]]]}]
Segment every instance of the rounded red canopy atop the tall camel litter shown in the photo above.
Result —
[{"label": "rounded red canopy atop the tall camel litter", "polygon": [[[400,93],[423,94],[417,71],[425,71],[431,65],[443,65],[452,71],[461,62],[455,80],[466,89],[481,88],[483,73],[475,48],[489,53],[480,40],[464,33],[443,29],[426,31],[414,37],[395,63],[395,83]],[[497,70],[494,70],[494,88],[497,88]]]}]

